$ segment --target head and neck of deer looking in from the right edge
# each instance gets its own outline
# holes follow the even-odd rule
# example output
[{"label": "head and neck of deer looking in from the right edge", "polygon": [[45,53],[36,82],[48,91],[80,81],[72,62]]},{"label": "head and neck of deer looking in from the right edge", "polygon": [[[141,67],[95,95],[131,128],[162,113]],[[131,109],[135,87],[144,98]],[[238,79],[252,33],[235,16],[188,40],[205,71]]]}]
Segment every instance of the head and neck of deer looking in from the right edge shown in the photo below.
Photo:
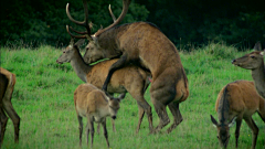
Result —
[{"label": "head and neck of deer looking in from the right edge", "polygon": [[232,61],[232,64],[242,68],[252,71],[252,78],[255,83],[257,93],[265,98],[265,68],[264,68],[264,51],[262,50],[261,42],[254,46],[254,52],[245,54],[242,57]]}]

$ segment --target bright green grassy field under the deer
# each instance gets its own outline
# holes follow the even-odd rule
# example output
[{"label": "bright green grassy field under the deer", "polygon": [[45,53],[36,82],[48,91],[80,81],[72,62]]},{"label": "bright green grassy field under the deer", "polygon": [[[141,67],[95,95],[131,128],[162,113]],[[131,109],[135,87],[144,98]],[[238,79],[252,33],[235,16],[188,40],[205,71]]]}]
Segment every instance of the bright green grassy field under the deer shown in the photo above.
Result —
[{"label": "bright green grassy field under the deer", "polygon": [[[234,57],[250,52],[236,52],[232,46],[209,44],[202,49],[180,52],[186,68],[190,96],[180,104],[183,121],[169,135],[148,135],[148,121],[144,117],[139,134],[135,134],[138,121],[136,100],[129,94],[121,102],[113,132],[108,119],[112,149],[214,149],[219,148],[216,129],[210,115],[214,110],[220,89],[236,79],[252,81],[251,72],[231,64]],[[71,64],[59,65],[55,61],[61,50],[41,46],[38,50],[1,47],[1,66],[17,75],[12,104],[21,117],[20,142],[13,143],[13,125],[9,119],[3,148],[11,149],[74,149],[78,147],[78,123],[74,109],[73,93],[83,82],[75,75]],[[145,94],[150,102],[149,89]],[[172,116],[168,113],[170,119]],[[152,106],[153,126],[158,116]],[[253,116],[259,128],[257,149],[265,149],[265,125],[257,114]],[[169,125],[170,126],[170,125]],[[231,128],[229,148],[235,148],[235,126]],[[91,137],[89,137],[91,138]],[[252,132],[243,121],[239,148],[251,148]],[[83,135],[83,148],[85,135]],[[95,135],[94,148],[107,148],[103,131]]]}]

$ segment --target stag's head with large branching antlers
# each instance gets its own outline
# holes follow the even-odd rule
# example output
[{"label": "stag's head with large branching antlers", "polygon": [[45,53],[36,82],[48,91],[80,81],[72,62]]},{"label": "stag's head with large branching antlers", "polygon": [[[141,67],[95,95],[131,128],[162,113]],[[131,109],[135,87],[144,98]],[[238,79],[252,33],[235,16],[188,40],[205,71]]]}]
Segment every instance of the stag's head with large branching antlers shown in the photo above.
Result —
[{"label": "stag's head with large branching antlers", "polygon": [[75,36],[77,39],[87,39],[88,40],[88,45],[86,46],[86,53],[84,55],[84,61],[86,63],[91,64],[91,63],[96,62],[98,60],[102,60],[102,58],[104,58],[106,56],[103,53],[103,51],[105,49],[103,49],[100,46],[100,44],[98,43],[98,36],[100,34],[103,34],[105,31],[116,26],[125,18],[125,15],[126,15],[126,13],[128,11],[130,1],[131,0],[123,0],[123,11],[121,11],[121,13],[120,13],[118,19],[116,19],[115,15],[113,14],[113,11],[112,11],[110,4],[109,4],[108,9],[109,9],[109,13],[110,13],[110,15],[112,15],[112,18],[114,20],[114,23],[108,25],[105,29],[99,29],[95,34],[91,33],[91,25],[88,24],[88,9],[87,9],[86,0],[83,0],[84,11],[85,11],[85,20],[83,22],[76,21],[76,20],[74,20],[71,17],[70,11],[68,11],[68,3],[67,3],[67,6],[66,6],[66,14],[67,14],[68,19],[72,22],[86,28],[85,32],[80,32],[80,31],[76,31],[73,28],[71,28],[72,31],[74,31],[77,34],[81,34],[81,35],[74,35],[74,34],[71,33],[73,36]]}]

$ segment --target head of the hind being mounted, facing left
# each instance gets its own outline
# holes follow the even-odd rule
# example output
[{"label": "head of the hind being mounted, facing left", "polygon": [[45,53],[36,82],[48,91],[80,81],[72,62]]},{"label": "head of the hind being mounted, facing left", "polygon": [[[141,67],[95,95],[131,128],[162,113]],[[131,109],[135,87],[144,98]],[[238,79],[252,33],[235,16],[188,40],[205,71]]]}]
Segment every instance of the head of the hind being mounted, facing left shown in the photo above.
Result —
[{"label": "head of the hind being mounted, facing left", "polygon": [[56,63],[63,64],[63,63],[70,63],[75,54],[78,54],[78,46],[81,46],[85,40],[78,40],[76,43],[74,43],[74,38],[71,38],[70,45],[63,50],[63,54],[56,60]]}]

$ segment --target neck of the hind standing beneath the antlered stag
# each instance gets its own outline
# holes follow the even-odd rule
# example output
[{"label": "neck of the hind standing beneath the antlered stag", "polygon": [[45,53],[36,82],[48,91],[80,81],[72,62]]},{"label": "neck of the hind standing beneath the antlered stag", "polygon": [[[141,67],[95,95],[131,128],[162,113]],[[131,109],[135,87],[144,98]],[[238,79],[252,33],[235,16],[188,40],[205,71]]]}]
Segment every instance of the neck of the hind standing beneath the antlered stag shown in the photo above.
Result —
[{"label": "neck of the hind standing beneath the antlered stag", "polygon": [[76,49],[76,54],[74,55],[75,57],[71,60],[71,65],[74,68],[76,75],[83,81],[83,82],[87,82],[86,81],[86,74],[88,72],[91,72],[93,65],[88,65],[85,63],[85,61],[83,60],[78,49]]}]

